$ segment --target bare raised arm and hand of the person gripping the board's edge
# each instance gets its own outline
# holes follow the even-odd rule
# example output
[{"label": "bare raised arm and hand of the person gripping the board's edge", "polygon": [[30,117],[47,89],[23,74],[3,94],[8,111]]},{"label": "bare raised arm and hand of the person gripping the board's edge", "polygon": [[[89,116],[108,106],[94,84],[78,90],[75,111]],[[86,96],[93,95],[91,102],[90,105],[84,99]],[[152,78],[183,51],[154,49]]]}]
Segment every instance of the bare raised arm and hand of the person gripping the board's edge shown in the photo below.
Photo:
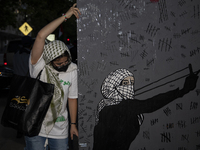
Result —
[{"label": "bare raised arm and hand of the person gripping the board's edge", "polygon": [[[76,4],[74,4],[65,14],[65,16],[69,19],[72,15],[75,15],[76,18],[79,18],[80,11],[76,8]],[[37,34],[32,52],[31,52],[31,63],[36,64],[40,56],[42,55],[45,39],[49,34],[51,34],[64,20],[65,16],[61,16],[54,21],[47,24],[43,27]]]}]

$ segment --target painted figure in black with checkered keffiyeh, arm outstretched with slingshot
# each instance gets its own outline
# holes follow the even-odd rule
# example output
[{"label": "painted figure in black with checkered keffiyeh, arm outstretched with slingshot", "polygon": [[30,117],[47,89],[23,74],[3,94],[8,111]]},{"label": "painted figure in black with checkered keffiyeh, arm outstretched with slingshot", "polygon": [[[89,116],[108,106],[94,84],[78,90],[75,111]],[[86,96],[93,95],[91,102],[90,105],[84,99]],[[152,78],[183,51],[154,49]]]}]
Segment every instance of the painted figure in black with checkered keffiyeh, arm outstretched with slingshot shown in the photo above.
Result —
[{"label": "painted figure in black with checkered keffiyeh, arm outstretched with slingshot", "polygon": [[196,88],[198,73],[191,72],[182,89],[174,89],[146,100],[134,97],[134,77],[117,69],[104,80],[104,96],[97,107],[93,150],[128,150],[140,131],[143,113],[152,113]]}]

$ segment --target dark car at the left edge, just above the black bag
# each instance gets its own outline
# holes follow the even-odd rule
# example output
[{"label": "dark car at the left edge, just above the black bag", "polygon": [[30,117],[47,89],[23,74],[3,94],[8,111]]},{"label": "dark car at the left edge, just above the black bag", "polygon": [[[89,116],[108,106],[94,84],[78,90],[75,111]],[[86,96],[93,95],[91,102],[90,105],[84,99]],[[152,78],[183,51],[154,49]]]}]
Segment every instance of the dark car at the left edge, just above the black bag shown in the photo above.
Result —
[{"label": "dark car at the left edge, just above the black bag", "polygon": [[9,89],[13,75],[12,69],[0,66],[0,89]]}]

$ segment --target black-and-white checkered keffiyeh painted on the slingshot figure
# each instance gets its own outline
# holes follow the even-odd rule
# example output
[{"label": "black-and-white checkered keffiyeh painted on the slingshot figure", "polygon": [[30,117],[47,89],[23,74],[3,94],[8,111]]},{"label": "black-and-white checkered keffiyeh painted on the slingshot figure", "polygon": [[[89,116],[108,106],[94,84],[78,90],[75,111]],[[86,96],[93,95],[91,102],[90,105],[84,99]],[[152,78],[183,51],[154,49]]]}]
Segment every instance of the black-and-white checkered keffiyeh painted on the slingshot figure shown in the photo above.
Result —
[{"label": "black-and-white checkered keffiyeh painted on the slingshot figure", "polygon": [[[122,100],[134,99],[134,85],[121,85],[126,77],[133,77],[127,69],[117,69],[111,72],[103,81],[101,92],[104,97],[97,107],[96,123],[99,121],[99,112],[110,105],[117,105]],[[138,115],[139,123],[142,124],[143,115]]]}]

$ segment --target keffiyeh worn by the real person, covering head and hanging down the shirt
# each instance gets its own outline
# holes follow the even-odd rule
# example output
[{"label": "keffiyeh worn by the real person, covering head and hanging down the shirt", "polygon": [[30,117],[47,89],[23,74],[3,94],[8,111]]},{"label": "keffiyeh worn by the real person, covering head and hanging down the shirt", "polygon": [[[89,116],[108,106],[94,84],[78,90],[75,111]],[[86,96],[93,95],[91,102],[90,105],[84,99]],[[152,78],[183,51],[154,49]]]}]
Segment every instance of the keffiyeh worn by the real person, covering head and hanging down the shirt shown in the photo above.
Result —
[{"label": "keffiyeh worn by the real person, covering head and hanging down the shirt", "polygon": [[56,40],[44,46],[43,59],[46,64],[44,67],[46,71],[46,82],[55,85],[54,96],[46,114],[45,120],[43,121],[47,134],[54,126],[54,123],[62,109],[62,103],[64,99],[63,89],[58,78],[59,74],[53,69],[50,62],[58,56],[62,55],[65,51],[67,51],[70,55],[68,47],[62,41]]}]

